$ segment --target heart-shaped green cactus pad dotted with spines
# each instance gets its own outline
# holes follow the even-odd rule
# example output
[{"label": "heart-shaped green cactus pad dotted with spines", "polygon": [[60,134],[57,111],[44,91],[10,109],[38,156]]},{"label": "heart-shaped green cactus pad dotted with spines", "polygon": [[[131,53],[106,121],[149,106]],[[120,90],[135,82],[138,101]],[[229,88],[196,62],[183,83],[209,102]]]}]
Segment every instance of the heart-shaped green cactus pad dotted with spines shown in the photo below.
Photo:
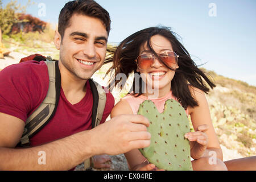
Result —
[{"label": "heart-shaped green cactus pad dotted with spines", "polygon": [[163,113],[159,113],[154,102],[146,100],[139,106],[138,114],[150,121],[147,130],[151,144],[139,149],[142,155],[159,169],[191,171],[189,141],[184,137],[189,132],[189,121],[179,102],[167,100]]}]

